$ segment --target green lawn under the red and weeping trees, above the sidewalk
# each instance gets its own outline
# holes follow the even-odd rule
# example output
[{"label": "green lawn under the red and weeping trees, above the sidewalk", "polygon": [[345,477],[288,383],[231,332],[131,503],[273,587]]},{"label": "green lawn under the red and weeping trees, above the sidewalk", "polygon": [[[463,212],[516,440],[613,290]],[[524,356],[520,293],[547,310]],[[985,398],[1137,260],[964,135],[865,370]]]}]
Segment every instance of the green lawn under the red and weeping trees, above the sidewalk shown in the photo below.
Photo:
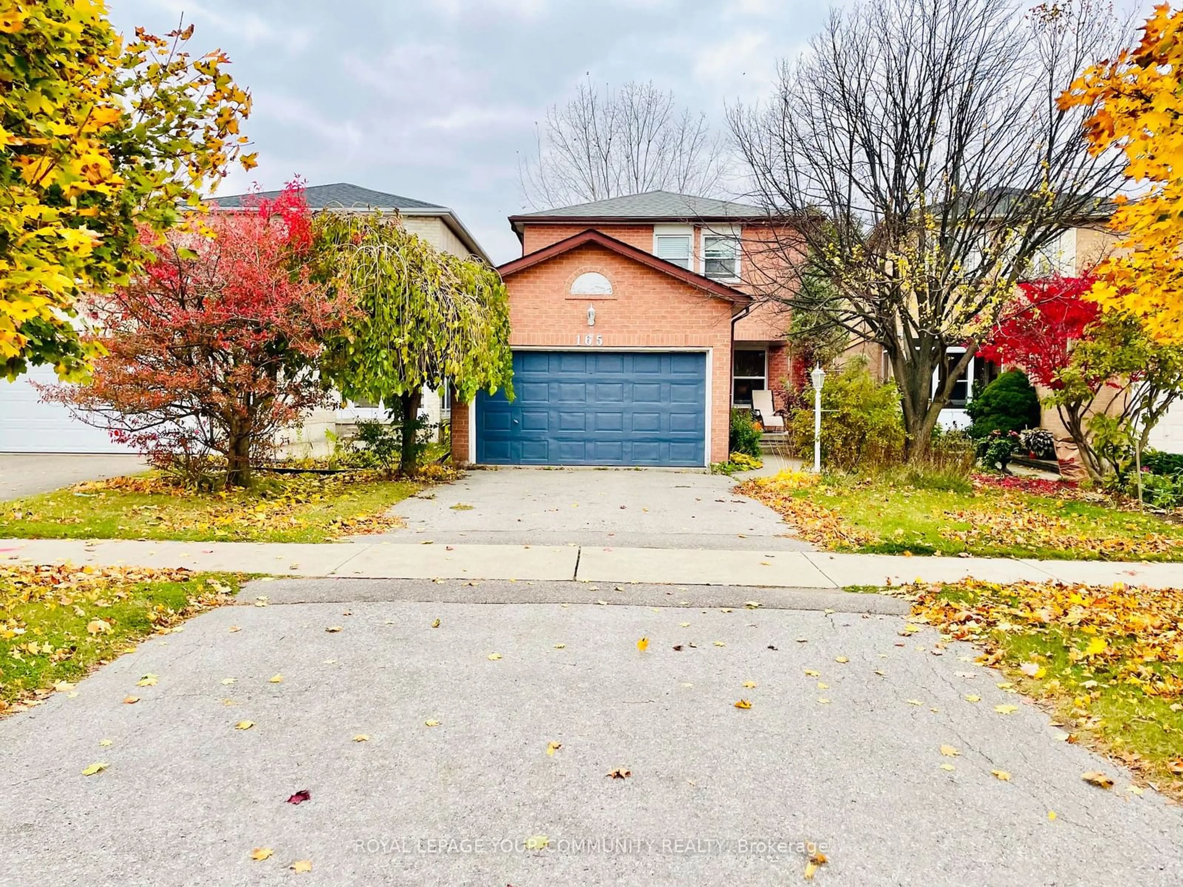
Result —
[{"label": "green lawn under the red and weeping trees, above the sidewalk", "polygon": [[328,542],[400,526],[387,510],[421,486],[373,472],[264,474],[250,491],[199,493],[115,478],[0,503],[0,537]]}]

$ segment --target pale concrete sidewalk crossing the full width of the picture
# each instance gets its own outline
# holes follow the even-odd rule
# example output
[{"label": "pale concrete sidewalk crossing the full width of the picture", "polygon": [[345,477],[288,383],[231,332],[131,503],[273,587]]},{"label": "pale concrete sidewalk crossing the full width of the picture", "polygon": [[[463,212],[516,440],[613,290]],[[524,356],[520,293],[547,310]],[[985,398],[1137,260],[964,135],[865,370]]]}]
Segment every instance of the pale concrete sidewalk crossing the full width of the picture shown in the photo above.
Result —
[{"label": "pale concrete sidewalk crossing the full width of the picture", "polygon": [[920,582],[1125,582],[1183,587],[1183,563],[1013,561],[557,545],[0,539],[0,563],[185,566],[277,576],[532,580],[834,589]]}]

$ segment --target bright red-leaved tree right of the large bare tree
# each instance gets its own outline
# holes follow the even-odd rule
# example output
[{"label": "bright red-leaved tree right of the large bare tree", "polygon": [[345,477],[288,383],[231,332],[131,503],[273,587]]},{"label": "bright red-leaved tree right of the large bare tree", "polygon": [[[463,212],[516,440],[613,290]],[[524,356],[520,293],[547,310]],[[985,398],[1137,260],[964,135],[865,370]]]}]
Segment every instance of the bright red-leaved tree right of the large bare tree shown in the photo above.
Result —
[{"label": "bright red-leaved tree right of the large bare tree", "polygon": [[1059,371],[1068,365],[1072,343],[1085,335],[1099,312],[1082,297],[1092,277],[1048,277],[1020,284],[1020,296],[989,342],[978,349],[988,361],[1020,367],[1047,388],[1062,387]]}]

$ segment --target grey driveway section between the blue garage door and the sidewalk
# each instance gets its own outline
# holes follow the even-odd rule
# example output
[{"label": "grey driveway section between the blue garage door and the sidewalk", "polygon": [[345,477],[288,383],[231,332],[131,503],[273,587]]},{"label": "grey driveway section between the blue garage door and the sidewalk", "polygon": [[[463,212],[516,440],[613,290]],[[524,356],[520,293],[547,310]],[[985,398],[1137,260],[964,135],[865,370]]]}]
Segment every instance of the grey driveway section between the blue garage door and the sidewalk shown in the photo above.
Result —
[{"label": "grey driveway section between the blue garage door and the sidewalk", "polygon": [[[720,474],[654,470],[471,471],[400,503],[396,542],[809,551]],[[373,539],[374,537],[367,537]]]}]

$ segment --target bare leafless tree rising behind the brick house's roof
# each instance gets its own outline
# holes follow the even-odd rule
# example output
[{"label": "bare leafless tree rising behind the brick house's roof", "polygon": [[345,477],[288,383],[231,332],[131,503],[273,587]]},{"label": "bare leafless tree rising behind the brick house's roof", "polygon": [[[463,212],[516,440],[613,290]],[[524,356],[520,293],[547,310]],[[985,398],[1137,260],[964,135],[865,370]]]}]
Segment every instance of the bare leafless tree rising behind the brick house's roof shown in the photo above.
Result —
[{"label": "bare leafless tree rising behind the brick house's roof", "polygon": [[724,140],[673,92],[635,82],[601,92],[588,80],[547,109],[518,174],[526,202],[549,209],[658,189],[710,195],[724,167]]}]

